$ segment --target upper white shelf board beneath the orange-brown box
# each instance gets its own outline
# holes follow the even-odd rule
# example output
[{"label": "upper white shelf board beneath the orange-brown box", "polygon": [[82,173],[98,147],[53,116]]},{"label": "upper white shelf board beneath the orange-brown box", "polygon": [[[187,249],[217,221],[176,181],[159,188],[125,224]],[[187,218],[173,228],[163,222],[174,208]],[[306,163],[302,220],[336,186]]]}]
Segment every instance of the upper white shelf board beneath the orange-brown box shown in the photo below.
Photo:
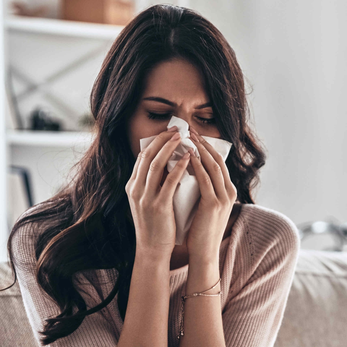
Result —
[{"label": "upper white shelf board beneath the orange-brown box", "polygon": [[124,26],[9,15],[7,18],[5,18],[5,28],[8,28],[11,31],[28,33],[114,40]]}]

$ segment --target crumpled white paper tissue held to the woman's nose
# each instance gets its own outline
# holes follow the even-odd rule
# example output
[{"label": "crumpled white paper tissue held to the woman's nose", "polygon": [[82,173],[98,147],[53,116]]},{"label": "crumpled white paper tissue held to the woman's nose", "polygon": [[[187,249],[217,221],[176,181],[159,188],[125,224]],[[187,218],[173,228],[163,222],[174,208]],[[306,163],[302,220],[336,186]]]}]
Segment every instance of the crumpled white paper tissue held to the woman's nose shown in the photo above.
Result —
[{"label": "crumpled white paper tissue held to the woman's nose", "polygon": [[[170,119],[167,128],[171,128],[174,125],[177,125],[177,131],[181,135],[181,142],[176,147],[175,151],[172,153],[168,163],[167,169],[168,172],[175,167],[176,163],[181,159],[181,157],[188,152],[188,148],[192,147],[197,158],[200,159],[200,154],[194,145],[194,143],[189,139],[189,124],[179,118],[172,116]],[[140,148],[143,151],[156,137],[150,136],[146,138],[140,139]],[[223,157],[223,161],[226,161],[231,143],[222,140],[220,138],[210,137],[210,136],[202,136],[218,153],[220,153]],[[176,222],[176,245],[182,245],[187,234],[189,228],[192,224],[193,217],[197,211],[199,202],[200,202],[200,188],[199,183],[195,177],[193,167],[191,163],[188,163],[187,168],[183,172],[179,183],[177,184],[174,196],[173,196],[173,207],[175,214],[175,222]]]}]

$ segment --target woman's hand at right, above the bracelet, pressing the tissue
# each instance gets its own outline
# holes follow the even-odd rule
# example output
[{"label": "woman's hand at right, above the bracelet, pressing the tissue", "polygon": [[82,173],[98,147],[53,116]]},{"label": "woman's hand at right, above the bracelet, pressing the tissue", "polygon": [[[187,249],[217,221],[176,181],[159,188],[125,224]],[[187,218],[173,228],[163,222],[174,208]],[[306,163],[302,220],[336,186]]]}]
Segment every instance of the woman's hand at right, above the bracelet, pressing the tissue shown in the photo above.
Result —
[{"label": "woman's hand at right, above the bracelet, pressing the tissue", "polygon": [[[222,156],[202,136],[192,131],[190,134],[189,138],[197,147],[201,159],[200,161],[192,155],[190,158],[201,198],[188,231],[187,250],[189,256],[215,257],[219,254],[237,190],[230,180]],[[198,141],[194,139],[194,135]]]}]

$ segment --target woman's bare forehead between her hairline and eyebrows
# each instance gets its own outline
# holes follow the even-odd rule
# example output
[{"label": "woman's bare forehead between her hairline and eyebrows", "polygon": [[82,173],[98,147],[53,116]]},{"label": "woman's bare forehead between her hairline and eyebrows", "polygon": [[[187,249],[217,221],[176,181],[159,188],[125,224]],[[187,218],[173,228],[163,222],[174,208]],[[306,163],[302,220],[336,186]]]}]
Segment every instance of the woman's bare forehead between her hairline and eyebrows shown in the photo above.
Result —
[{"label": "woman's bare forehead between her hairline and eyebrows", "polygon": [[161,96],[176,102],[187,98],[209,101],[200,70],[177,59],[161,62],[149,72],[144,81],[143,97],[146,96]]}]

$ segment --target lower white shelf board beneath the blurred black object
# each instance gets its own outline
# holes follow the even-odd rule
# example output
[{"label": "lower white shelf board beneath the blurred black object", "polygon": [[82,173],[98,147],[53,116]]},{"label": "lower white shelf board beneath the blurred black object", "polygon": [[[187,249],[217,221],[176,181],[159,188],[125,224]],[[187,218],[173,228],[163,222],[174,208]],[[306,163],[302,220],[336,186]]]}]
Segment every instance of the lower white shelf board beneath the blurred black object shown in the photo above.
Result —
[{"label": "lower white shelf board beneath the blurred black object", "polygon": [[8,129],[6,142],[9,145],[71,147],[90,145],[93,137],[90,132]]}]

